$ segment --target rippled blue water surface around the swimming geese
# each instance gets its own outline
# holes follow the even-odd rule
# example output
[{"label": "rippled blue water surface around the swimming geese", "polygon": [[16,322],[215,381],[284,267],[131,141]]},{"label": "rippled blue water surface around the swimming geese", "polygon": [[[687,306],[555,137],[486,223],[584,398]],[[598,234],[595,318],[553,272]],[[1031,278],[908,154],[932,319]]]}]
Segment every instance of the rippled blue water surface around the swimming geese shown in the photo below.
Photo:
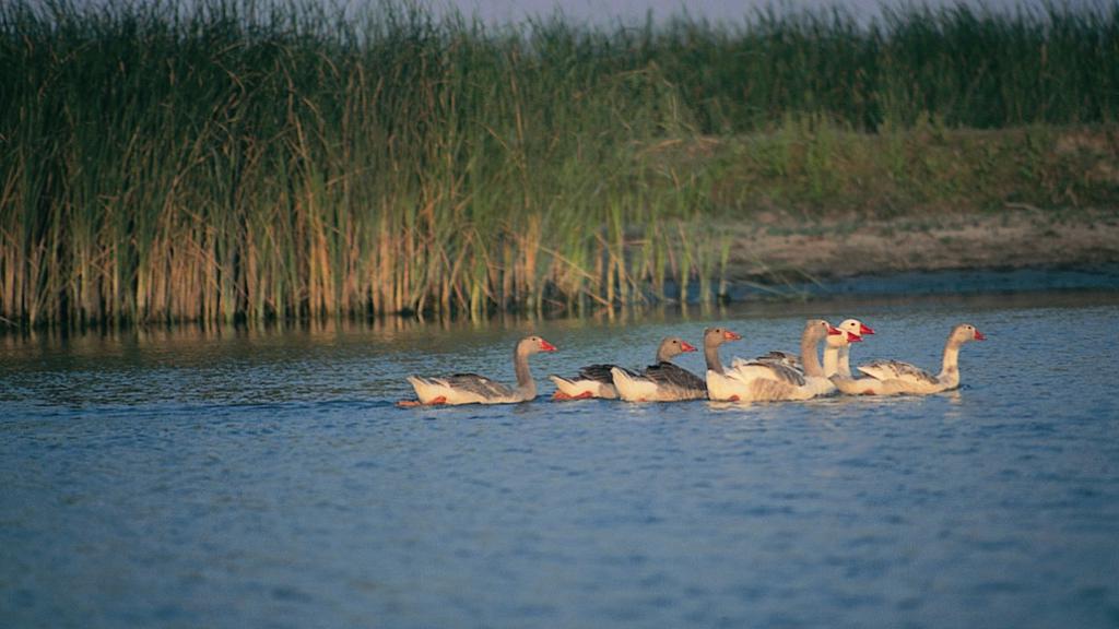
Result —
[{"label": "rippled blue water surface around the swimming geese", "polygon": [[[401,410],[408,373],[645,364],[803,319],[965,387]],[[4,627],[1119,627],[1116,293],[0,339]],[[685,366],[699,367],[696,355]]]}]

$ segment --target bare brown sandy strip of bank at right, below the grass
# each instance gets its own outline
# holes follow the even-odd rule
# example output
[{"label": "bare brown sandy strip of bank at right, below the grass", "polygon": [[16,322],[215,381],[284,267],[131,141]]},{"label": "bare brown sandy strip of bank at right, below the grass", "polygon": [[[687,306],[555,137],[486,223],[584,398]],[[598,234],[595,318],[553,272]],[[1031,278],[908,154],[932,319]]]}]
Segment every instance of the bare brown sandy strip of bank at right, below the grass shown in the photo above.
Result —
[{"label": "bare brown sandy strip of bank at right, below the grass", "polygon": [[[819,287],[852,292],[913,282],[920,288],[931,278],[952,274],[1013,278],[996,281],[995,290],[1119,289],[1116,210],[1012,208],[998,214],[808,222],[770,214],[753,223],[727,226],[733,244],[725,279],[732,298],[743,288],[767,292],[794,287],[814,294],[821,292]],[[908,291],[895,285],[872,292]]]}]

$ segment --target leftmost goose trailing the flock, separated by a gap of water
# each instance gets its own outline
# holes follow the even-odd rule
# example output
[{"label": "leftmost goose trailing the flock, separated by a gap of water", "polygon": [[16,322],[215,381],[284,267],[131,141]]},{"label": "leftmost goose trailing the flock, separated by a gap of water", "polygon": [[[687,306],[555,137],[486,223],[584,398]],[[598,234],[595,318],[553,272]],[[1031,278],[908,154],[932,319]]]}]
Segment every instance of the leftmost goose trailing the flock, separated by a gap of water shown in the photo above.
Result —
[{"label": "leftmost goose trailing the flock, separated by a gap of water", "polygon": [[555,351],[556,347],[538,336],[520,339],[513,351],[517,386],[510,388],[478,374],[454,374],[444,377],[408,376],[419,401],[407,400],[401,406],[421,404],[513,404],[536,397],[536,383],[528,370],[528,357],[539,351]]}]

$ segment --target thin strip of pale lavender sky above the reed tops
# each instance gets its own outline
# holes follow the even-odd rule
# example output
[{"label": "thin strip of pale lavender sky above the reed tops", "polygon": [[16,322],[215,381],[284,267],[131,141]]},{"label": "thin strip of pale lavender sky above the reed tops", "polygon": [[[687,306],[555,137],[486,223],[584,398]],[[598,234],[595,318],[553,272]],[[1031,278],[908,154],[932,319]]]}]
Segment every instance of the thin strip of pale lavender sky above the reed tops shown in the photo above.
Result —
[{"label": "thin strip of pale lavender sky above the reed tops", "polygon": [[[612,25],[641,22],[650,10],[655,18],[668,17],[679,13],[685,4],[688,13],[695,18],[741,22],[753,10],[770,4],[792,8],[840,6],[855,16],[869,18],[883,4],[897,7],[902,2],[911,3],[912,0],[443,0],[442,3],[458,8],[466,16],[477,15],[487,24],[517,22],[532,16],[551,16],[557,7],[562,7],[563,15],[574,21]],[[938,7],[960,2],[996,10],[1013,10],[1019,6],[1040,7],[1044,0],[923,0],[918,3]],[[1070,0],[1070,3],[1092,4],[1097,0]]]}]

